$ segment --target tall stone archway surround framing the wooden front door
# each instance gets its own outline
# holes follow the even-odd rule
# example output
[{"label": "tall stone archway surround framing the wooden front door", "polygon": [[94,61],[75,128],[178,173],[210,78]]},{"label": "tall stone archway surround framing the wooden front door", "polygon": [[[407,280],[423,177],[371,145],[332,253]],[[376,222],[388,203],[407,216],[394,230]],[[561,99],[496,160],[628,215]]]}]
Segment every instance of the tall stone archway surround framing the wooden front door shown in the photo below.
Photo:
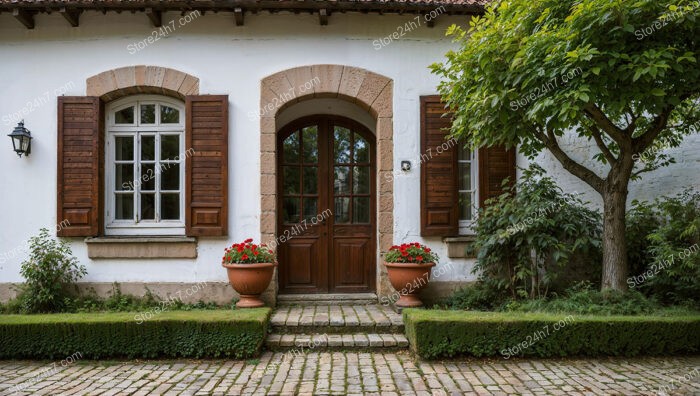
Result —
[{"label": "tall stone archway surround framing the wooden front door", "polygon": [[[393,244],[393,81],[352,66],[309,65],[284,70],[262,80],[260,92],[260,171],[262,241],[276,238],[276,134],[277,114],[288,106],[312,98],[339,98],[367,110],[377,122],[377,237],[379,252]],[[391,292],[386,270],[377,257],[377,294]]]}]

